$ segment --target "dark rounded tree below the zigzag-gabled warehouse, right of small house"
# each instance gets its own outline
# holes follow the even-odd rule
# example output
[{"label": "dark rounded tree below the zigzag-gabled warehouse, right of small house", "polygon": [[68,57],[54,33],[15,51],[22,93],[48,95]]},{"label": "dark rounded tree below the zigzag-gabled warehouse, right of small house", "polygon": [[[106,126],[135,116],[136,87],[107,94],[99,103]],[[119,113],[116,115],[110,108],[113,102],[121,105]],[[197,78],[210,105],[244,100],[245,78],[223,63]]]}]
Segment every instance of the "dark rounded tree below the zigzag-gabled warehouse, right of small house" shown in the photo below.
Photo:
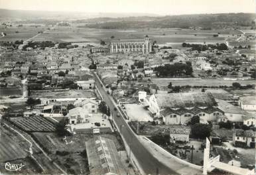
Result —
[{"label": "dark rounded tree below the zigzag-gabled warehouse, right of small house", "polygon": [[210,137],[212,132],[212,128],[208,124],[203,123],[195,123],[191,126],[192,137],[206,139],[206,137]]}]

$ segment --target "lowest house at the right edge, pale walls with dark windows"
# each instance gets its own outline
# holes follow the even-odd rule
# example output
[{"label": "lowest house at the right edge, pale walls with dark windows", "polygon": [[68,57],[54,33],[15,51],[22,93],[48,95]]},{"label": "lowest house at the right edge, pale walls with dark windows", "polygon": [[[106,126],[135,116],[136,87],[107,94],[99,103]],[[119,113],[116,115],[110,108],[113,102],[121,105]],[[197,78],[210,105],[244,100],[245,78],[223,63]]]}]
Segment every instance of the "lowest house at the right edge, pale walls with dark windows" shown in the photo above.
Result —
[{"label": "lowest house at the right edge, pale walls with dark windows", "polygon": [[255,147],[256,133],[253,130],[233,129],[233,145],[236,147]]}]

